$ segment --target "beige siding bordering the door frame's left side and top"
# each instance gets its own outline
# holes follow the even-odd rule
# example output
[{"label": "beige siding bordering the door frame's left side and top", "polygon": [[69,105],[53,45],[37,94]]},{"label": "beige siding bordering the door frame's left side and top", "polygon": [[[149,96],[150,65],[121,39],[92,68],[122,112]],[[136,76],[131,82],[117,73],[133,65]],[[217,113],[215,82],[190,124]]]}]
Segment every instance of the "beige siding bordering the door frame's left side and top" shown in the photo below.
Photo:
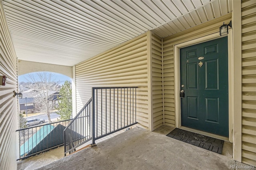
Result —
[{"label": "beige siding bordering the door frame's left side and top", "polygon": [[164,121],[165,125],[175,127],[174,108],[174,49],[178,43],[187,42],[219,31],[220,25],[229,23],[231,13],[210,20],[199,26],[174,34],[163,39],[164,53]]}]

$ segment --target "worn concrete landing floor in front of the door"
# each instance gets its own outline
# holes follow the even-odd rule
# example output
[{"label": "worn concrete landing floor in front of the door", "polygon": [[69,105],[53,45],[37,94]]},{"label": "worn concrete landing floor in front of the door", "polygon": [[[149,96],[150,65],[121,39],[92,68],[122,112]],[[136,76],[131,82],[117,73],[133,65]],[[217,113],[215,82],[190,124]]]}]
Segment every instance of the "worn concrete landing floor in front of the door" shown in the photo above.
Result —
[{"label": "worn concrete landing floor in front of the door", "polygon": [[230,165],[246,165],[232,159],[228,142],[221,155],[166,136],[173,129],[162,126],[150,132],[132,128],[38,170],[224,170]]}]

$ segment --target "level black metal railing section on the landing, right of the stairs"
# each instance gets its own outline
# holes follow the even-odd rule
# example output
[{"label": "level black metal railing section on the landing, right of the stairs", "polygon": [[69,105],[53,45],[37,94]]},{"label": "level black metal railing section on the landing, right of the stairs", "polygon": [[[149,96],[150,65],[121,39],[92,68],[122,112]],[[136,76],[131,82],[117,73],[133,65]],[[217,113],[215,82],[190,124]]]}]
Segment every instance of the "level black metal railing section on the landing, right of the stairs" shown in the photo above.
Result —
[{"label": "level black metal railing section on the landing, right of the stairs", "polygon": [[92,144],[104,136],[135,125],[138,87],[92,88]]}]

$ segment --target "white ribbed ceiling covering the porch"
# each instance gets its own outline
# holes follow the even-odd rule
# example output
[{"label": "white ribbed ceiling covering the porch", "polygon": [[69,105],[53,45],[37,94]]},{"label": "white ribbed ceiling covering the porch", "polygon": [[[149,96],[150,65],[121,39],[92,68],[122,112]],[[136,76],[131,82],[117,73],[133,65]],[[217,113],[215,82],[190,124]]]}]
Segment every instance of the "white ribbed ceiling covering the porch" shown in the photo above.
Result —
[{"label": "white ribbed ceiling covering the porch", "polygon": [[148,30],[166,37],[232,11],[232,0],[2,0],[20,60],[73,66]]}]

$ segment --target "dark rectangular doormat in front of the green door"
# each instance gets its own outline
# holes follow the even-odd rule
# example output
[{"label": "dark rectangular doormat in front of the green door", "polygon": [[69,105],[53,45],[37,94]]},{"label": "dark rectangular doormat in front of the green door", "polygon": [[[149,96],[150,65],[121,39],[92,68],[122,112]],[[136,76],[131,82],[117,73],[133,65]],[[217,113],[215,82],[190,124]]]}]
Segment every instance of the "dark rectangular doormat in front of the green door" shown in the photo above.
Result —
[{"label": "dark rectangular doormat in front of the green door", "polygon": [[200,148],[210,150],[212,152],[216,152],[218,154],[221,154],[224,144],[224,140],[212,138],[194,132],[189,132],[187,130],[182,130],[179,128],[175,128],[166,136],[192,144],[194,146],[198,146]]}]

